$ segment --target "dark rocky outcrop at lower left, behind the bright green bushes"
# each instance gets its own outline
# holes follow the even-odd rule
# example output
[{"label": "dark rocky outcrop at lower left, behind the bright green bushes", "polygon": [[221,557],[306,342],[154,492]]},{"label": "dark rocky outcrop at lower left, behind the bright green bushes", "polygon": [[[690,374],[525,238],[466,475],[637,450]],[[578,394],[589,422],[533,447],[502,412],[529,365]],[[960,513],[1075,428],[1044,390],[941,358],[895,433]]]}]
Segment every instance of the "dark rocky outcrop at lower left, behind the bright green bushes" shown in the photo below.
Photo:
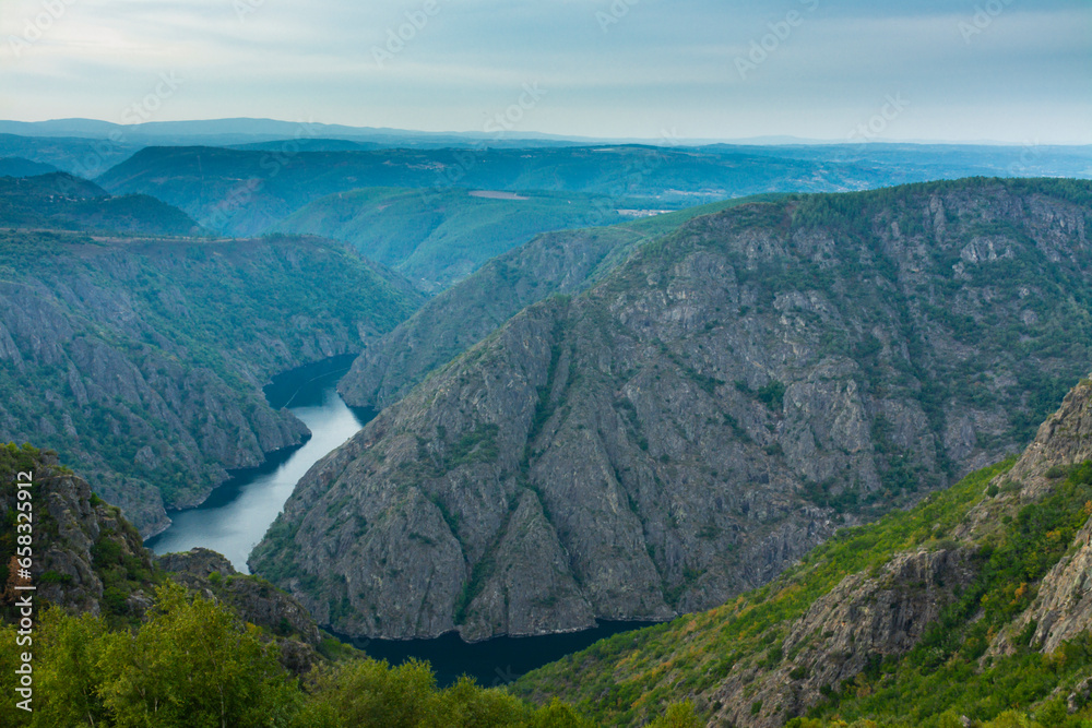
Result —
[{"label": "dark rocky outcrop at lower left, behind the bright green bushes", "polygon": [[[19,472],[29,473],[34,484],[28,580],[12,563]],[[318,626],[296,599],[264,580],[238,574],[227,559],[207,549],[154,558],[120,510],[93,494],[90,484],[61,467],[52,453],[0,446],[0,522],[5,524],[0,529],[0,617],[14,617],[13,605],[23,594],[14,587],[33,584],[38,613],[49,604],[110,623],[134,623],[154,604],[155,587],[169,577],[263,628],[294,672],[306,672],[320,659]]]}]

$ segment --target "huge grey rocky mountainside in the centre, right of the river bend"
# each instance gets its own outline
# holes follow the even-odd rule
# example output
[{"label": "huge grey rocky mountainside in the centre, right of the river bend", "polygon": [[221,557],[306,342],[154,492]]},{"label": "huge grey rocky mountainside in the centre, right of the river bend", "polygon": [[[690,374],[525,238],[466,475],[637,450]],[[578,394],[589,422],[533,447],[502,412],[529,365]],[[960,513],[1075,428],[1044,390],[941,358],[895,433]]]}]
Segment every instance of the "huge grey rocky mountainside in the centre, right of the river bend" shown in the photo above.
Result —
[{"label": "huge grey rocky mountainside in the centre, right of the river bend", "polygon": [[252,565],[357,635],[721,604],[1029,437],[1092,355],[1087,188],[698,218],[384,410],[300,481]]}]

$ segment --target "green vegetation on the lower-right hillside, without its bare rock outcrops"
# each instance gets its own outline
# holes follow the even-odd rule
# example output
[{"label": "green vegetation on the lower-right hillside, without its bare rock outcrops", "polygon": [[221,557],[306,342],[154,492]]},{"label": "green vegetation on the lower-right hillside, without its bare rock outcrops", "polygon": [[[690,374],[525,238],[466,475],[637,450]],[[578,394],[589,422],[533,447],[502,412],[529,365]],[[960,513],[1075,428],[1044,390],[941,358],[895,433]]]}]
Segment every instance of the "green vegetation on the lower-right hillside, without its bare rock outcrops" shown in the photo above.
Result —
[{"label": "green vegetation on the lower-right hillside, without its bare rock outcrops", "polygon": [[[1087,397],[1089,387],[1084,380],[1078,392]],[[1077,427],[1052,431],[1087,437]],[[1035,452],[1029,462],[1044,456]],[[752,669],[756,687],[807,677],[808,665],[783,654],[781,640],[844,577],[876,576],[899,552],[960,548],[972,552],[974,576],[913,648],[871,655],[853,679],[823,685],[824,697],[788,725],[950,728],[965,716],[997,728],[1087,726],[1092,705],[1080,685],[1092,675],[1092,635],[1082,631],[1045,652],[1035,642],[1036,622],[1021,616],[1037,604],[1044,576],[1083,546],[1078,535],[1092,514],[1092,463],[1041,466],[1052,485],[1030,499],[1021,482],[1004,477],[1012,464],[976,472],[907,512],[840,532],[772,584],[723,607],[616,635],[524,677],[513,690],[533,700],[560,694],[602,725],[634,725],[651,706],[681,696],[713,712],[721,706],[717,684],[733,670]],[[1007,635],[1009,649],[998,648],[998,635]],[[773,675],[786,665],[792,671]],[[756,716],[762,711],[761,702],[751,707]]]}]

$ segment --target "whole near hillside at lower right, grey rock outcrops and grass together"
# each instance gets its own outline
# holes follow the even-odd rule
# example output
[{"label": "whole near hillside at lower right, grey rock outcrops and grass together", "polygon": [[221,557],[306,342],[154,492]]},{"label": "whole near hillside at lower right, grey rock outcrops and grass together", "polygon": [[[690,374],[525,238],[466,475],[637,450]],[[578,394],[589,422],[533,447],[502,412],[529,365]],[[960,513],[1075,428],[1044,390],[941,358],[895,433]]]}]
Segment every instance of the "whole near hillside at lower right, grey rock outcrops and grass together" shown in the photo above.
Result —
[{"label": "whole near hillside at lower right, grey rock outcrops and grass together", "polygon": [[[982,684],[1008,677],[1007,669],[1022,669],[1019,663],[999,660],[1020,652],[1026,665],[1026,654],[1040,652],[1044,664],[1064,664],[1064,643],[1081,644],[1092,630],[1092,532],[1087,520],[1092,505],[1081,505],[1083,496],[1068,497],[1068,510],[1051,504],[1071,486],[1075,473],[1084,484],[1081,492],[1092,482],[1090,413],[1092,381],[1083,380],[1013,465],[990,469],[1000,470],[998,475],[973,476],[909,513],[840,534],[840,547],[810,554],[772,587],[663,629],[644,630],[631,641],[592,647],[533,673],[518,690],[535,696],[548,684],[551,694],[583,697],[585,708],[594,709],[610,702],[589,685],[606,680],[628,691],[636,683],[642,694],[658,691],[695,700],[710,726],[770,728],[832,700],[841,702],[827,714],[845,715],[854,709],[854,697],[867,700],[874,690],[887,695],[902,691],[904,713],[890,704],[887,709],[893,707],[894,715],[865,712],[893,725],[899,716],[909,723],[935,719],[948,707],[930,703],[921,682],[914,688],[899,682],[945,664],[964,666],[954,670],[963,670],[965,679],[985,673],[978,688],[968,688],[984,704],[988,695],[975,692]],[[1075,518],[1083,525],[1075,527],[1071,540],[1057,542],[1065,530],[1056,528],[1058,523]],[[1036,521],[1037,526],[1029,525]],[[1036,528],[1045,533],[1036,536]],[[905,548],[911,544],[917,545]],[[1016,578],[998,577],[1008,564],[990,561],[990,554],[1019,554],[1022,549],[1036,553],[1033,561],[1018,566]],[[862,562],[871,565],[854,566]],[[1029,563],[1041,570],[1041,577],[1026,571]],[[1021,601],[1021,595],[1034,596]],[[923,645],[930,632],[933,641]],[[914,654],[917,661],[907,666]],[[933,668],[923,667],[930,658]],[[996,678],[988,677],[990,667]],[[1038,695],[1068,695],[1072,713],[1088,699],[1088,669],[1079,663],[1067,667],[1068,672],[1058,668],[1053,678],[1038,678],[1046,681]],[[1051,679],[1057,681],[1053,689]],[[1025,693],[1021,706],[1035,697]],[[609,714],[609,708],[608,715],[618,725],[636,719]]]}]

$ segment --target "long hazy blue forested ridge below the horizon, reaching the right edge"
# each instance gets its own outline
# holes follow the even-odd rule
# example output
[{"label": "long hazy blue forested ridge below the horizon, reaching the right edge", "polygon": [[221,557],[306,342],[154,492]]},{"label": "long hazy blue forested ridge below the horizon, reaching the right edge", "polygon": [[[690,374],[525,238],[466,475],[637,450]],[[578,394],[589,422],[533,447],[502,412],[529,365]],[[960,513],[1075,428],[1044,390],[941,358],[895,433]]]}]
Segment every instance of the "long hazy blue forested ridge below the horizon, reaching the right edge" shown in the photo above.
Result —
[{"label": "long hazy blue forested ridge below the horizon, reaching the right edge", "polygon": [[308,150],[147,147],[96,178],[150,194],[205,227],[249,236],[319,198],[360,188],[539,190],[638,198],[677,208],[770,192],[840,192],[943,177],[1092,177],[1089,150],[859,145],[597,145]]}]

